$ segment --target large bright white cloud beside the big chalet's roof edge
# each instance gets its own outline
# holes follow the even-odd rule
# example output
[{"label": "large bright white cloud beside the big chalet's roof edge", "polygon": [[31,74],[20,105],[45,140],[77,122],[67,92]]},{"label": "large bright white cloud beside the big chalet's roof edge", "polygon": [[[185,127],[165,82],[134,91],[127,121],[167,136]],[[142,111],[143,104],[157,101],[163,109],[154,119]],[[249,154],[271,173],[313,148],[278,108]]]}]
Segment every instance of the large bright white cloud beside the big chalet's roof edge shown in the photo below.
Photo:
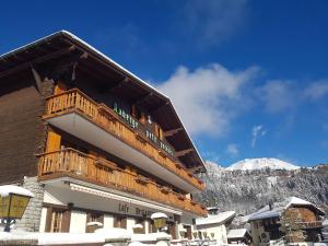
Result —
[{"label": "large bright white cloud beside the big chalet's roof edge", "polygon": [[257,72],[256,67],[232,72],[219,63],[195,71],[180,67],[157,87],[171,97],[191,134],[223,134],[246,104],[241,103],[243,85]]}]

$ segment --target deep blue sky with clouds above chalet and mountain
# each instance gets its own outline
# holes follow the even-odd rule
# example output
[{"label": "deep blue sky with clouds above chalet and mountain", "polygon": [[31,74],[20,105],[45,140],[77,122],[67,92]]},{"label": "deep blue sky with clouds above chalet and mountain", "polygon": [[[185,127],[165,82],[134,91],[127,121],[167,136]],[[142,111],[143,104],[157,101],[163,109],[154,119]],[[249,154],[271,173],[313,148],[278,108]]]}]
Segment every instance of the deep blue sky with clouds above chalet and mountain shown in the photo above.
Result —
[{"label": "deep blue sky with clouds above chalet and mountain", "polygon": [[204,160],[328,162],[327,1],[10,1],[1,9],[1,54],[72,32],[171,96]]}]

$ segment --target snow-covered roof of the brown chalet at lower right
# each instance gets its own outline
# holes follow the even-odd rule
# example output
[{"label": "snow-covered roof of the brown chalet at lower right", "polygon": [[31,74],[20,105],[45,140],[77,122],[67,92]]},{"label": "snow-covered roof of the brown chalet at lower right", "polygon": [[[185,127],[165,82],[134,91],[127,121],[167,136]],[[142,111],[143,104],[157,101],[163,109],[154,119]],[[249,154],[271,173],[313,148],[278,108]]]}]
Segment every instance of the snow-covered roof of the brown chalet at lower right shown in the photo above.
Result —
[{"label": "snow-covered roof of the brown chalet at lower right", "polygon": [[273,202],[272,209],[270,210],[269,204],[265,206],[263,208],[259,209],[255,213],[246,215],[247,221],[255,221],[255,220],[263,220],[269,218],[277,218],[280,216],[283,210],[293,207],[293,206],[305,206],[311,207],[312,209],[316,210],[319,214],[325,214],[314,203],[303,200],[297,197],[289,197],[284,199],[282,202]]}]

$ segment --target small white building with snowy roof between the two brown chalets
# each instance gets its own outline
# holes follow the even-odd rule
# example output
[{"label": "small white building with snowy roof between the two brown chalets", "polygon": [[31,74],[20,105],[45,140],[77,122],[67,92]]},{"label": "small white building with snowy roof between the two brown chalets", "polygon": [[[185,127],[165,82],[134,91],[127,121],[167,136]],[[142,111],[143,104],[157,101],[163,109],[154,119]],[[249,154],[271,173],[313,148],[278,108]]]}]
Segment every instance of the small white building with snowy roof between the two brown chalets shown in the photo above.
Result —
[{"label": "small white building with snowy roof between the two brown chalets", "polygon": [[235,215],[234,211],[215,214],[213,209],[211,209],[208,218],[196,219],[198,237],[203,238],[203,233],[206,232],[207,236],[215,239],[219,245],[227,244],[226,232]]}]

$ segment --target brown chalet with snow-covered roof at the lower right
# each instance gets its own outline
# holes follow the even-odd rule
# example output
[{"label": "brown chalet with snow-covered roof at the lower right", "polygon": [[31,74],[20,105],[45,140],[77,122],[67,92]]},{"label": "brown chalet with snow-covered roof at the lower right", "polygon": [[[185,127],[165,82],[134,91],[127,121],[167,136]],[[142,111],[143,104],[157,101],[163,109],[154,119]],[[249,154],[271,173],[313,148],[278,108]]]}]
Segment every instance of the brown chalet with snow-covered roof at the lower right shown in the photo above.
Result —
[{"label": "brown chalet with snow-covered roof at the lower right", "polygon": [[296,197],[270,203],[248,215],[254,244],[284,238],[290,243],[318,242],[325,213],[315,204]]}]

